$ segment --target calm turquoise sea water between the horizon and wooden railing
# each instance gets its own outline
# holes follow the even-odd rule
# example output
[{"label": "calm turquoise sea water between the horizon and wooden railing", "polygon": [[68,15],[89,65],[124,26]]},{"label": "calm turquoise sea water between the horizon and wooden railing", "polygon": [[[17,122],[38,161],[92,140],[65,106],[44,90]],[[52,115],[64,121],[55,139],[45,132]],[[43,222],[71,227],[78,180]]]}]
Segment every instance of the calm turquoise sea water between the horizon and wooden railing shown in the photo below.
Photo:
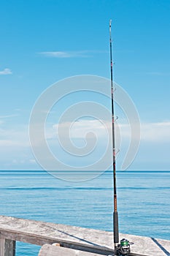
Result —
[{"label": "calm turquoise sea water between the horizon and wooden railing", "polygon": [[[170,172],[117,172],[121,233],[169,239]],[[1,215],[112,230],[112,172],[63,181],[45,171],[0,172]],[[17,244],[17,256],[39,246]]]}]

